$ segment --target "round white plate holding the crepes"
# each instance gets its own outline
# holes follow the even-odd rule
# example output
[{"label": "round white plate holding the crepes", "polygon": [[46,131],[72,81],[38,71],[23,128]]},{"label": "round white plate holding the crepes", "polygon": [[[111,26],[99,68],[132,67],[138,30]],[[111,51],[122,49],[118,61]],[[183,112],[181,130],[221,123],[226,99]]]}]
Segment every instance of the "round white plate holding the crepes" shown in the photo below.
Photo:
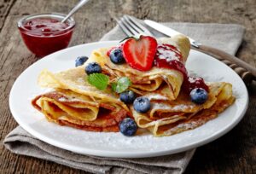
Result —
[{"label": "round white plate holding the crepes", "polygon": [[110,47],[118,42],[82,44],[48,55],[28,67],[16,79],[10,92],[9,107],[15,120],[38,139],[78,154],[104,157],[139,158],[175,154],[212,142],[230,131],[247,110],[248,94],[241,78],[224,63],[209,55],[191,50],[186,63],[190,73],[199,74],[207,81],[225,81],[233,84],[236,102],[213,119],[192,131],[174,136],[154,137],[150,134],[126,137],[120,133],[80,131],[67,126],[49,123],[42,113],[31,105],[34,96],[46,90],[37,85],[38,74],[47,68],[57,72],[74,67],[79,55],[90,55],[93,49]]}]

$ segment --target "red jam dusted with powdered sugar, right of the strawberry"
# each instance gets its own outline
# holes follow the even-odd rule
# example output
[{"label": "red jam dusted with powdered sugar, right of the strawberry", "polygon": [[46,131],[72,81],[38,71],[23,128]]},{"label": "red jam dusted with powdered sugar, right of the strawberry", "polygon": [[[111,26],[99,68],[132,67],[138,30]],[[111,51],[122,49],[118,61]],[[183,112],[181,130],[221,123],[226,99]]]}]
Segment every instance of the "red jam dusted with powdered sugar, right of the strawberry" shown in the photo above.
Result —
[{"label": "red jam dusted with powdered sugar, right of the strawberry", "polygon": [[175,69],[183,73],[183,90],[190,93],[195,88],[202,88],[209,92],[203,78],[192,78],[188,76],[186,67],[183,64],[183,57],[176,47],[169,44],[159,44],[154,58],[154,66]]}]

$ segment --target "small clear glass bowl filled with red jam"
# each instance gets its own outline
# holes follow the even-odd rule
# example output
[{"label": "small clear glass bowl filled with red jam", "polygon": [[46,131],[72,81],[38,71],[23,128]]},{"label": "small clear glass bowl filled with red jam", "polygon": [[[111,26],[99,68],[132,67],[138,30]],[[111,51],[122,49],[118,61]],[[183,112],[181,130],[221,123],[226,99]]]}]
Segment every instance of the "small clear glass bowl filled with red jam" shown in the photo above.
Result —
[{"label": "small clear glass bowl filled with red jam", "polygon": [[28,49],[40,57],[67,48],[73,34],[73,26],[60,20],[41,17],[27,20],[19,26]]}]

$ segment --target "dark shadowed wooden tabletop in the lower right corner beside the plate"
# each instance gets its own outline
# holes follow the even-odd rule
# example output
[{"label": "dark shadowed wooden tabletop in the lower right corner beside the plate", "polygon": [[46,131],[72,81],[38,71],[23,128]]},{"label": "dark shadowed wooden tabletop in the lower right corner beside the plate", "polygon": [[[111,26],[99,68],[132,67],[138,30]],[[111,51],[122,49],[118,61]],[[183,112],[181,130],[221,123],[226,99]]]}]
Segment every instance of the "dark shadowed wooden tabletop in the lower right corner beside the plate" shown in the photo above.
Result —
[{"label": "dark shadowed wooden tabletop in the lower right corner beside the plate", "polygon": [[[254,88],[255,90],[255,88]],[[197,148],[187,173],[252,173],[255,165],[255,98],[247,114],[232,131],[218,140]],[[232,166],[232,167],[231,167]],[[198,170],[196,168],[200,168]]]}]

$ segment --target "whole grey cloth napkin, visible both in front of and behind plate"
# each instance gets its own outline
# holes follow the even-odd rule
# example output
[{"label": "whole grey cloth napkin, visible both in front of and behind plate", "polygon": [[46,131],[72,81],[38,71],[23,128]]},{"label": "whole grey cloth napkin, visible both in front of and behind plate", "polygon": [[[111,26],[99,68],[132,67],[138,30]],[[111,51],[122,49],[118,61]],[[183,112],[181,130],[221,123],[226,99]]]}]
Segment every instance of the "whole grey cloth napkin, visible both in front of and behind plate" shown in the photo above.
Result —
[{"label": "whole grey cloth napkin, visible both in front of and behind plate", "polygon": [[[238,25],[164,24],[195,38],[203,44],[223,49],[232,55],[236,54],[244,32],[244,28]],[[162,36],[157,32],[154,34],[158,37]],[[103,36],[102,40],[119,40],[122,38],[125,38],[125,34],[119,29],[119,26],[115,26],[113,30]],[[195,153],[195,149],[191,149],[179,154],[143,159],[114,159],[74,154],[40,141],[20,126],[11,131],[3,143],[5,148],[15,154],[46,159],[92,173],[183,173]]]}]

